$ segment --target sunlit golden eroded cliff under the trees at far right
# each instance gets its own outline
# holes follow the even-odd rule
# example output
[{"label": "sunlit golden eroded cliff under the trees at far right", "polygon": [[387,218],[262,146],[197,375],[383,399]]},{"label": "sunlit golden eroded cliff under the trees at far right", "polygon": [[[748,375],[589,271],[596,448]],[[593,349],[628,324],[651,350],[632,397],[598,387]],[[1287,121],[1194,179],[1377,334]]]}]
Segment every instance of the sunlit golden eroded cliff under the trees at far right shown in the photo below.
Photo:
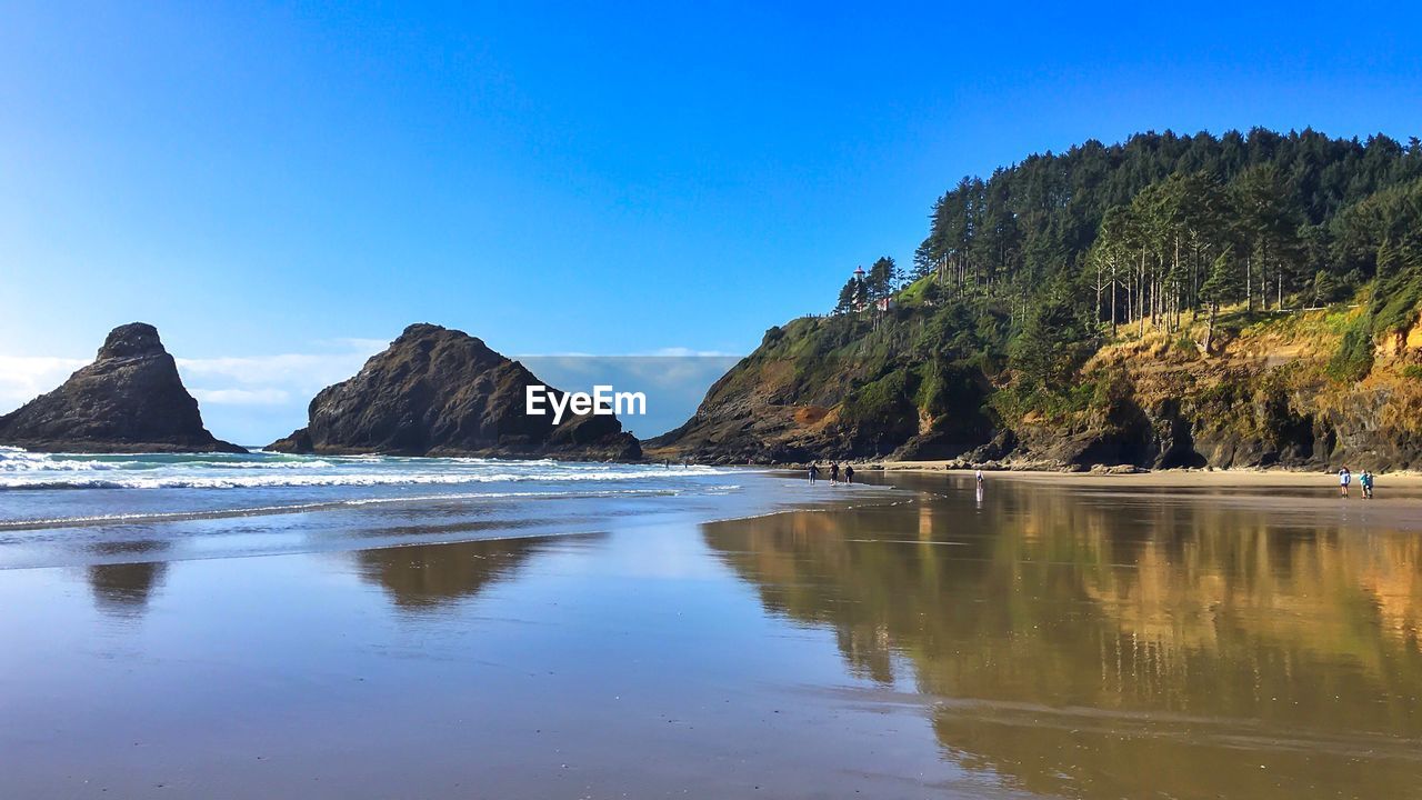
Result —
[{"label": "sunlit golden eroded cliff under the trees at far right", "polygon": [[[1082,370],[1078,410],[1004,420],[1012,441],[966,454],[1003,465],[1422,467],[1422,349],[1388,337],[1359,380],[1330,370],[1347,312],[1224,337],[1209,357],[1165,336],[1111,344]],[[1422,329],[1422,323],[1419,323]]]}]

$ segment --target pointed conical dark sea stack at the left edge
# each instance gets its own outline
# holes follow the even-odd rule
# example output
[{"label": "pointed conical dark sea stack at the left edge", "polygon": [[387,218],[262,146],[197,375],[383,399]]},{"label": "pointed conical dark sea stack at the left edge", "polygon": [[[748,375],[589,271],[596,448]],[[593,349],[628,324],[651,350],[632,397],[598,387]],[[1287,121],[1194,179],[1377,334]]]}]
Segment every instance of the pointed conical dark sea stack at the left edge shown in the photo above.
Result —
[{"label": "pointed conical dark sea stack at the left edge", "polygon": [[48,453],[246,453],[215,438],[158,329],[109,332],[92,364],[0,416],[0,444]]}]

